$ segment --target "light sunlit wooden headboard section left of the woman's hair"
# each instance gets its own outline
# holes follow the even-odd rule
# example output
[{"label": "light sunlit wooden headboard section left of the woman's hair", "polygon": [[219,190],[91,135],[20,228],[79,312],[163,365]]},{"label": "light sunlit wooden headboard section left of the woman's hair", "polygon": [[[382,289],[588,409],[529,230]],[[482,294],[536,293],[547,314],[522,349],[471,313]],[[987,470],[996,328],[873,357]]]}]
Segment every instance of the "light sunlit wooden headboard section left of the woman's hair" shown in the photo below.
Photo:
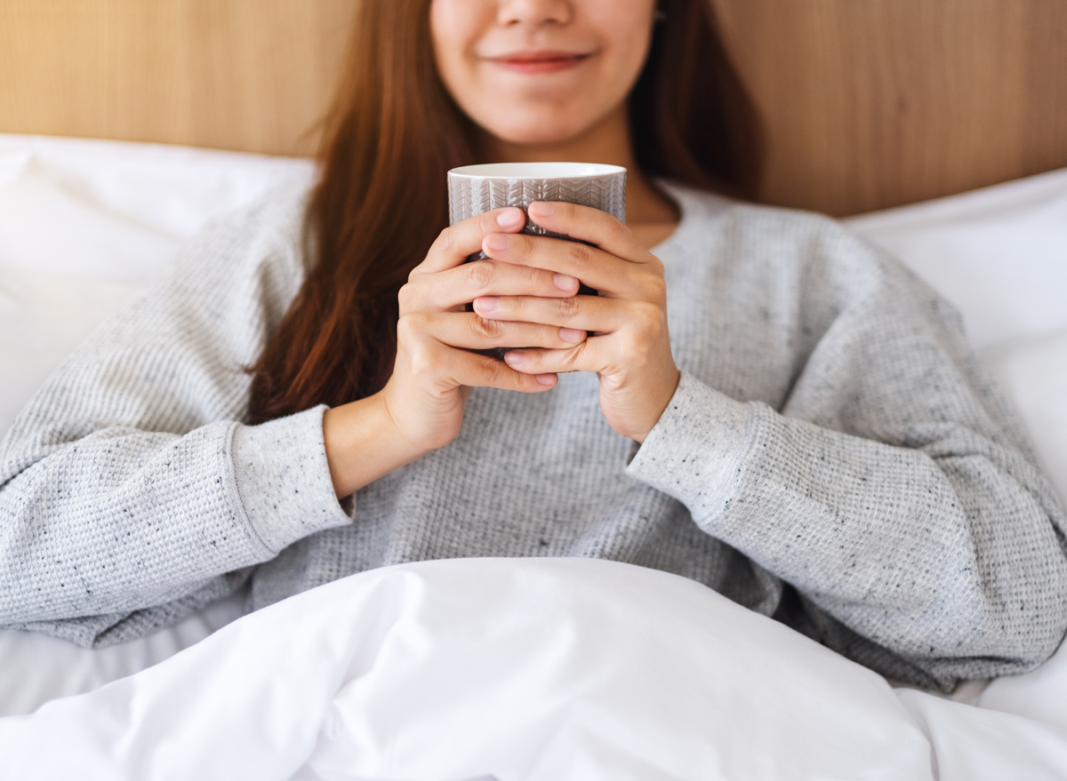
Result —
[{"label": "light sunlit wooden headboard section left of the woman's hair", "polygon": [[0,130],[309,154],[352,0],[3,0]]}]

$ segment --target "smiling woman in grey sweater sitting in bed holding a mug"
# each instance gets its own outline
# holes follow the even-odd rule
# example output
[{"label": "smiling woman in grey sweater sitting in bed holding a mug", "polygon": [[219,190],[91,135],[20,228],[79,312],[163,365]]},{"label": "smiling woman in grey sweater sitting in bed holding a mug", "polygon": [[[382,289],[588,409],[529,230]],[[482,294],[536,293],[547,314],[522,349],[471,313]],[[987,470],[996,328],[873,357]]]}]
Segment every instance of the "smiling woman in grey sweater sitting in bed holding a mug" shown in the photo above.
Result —
[{"label": "smiling woman in grey sweater sitting in bed holding a mug", "polygon": [[[1052,653],[1046,480],[943,302],[721,194],[758,144],[701,0],[368,0],[351,57],[315,190],[217,226],[19,417],[0,623],[101,645],[246,581],[254,609],[401,561],[593,556],[926,686]],[[442,230],[450,168],[558,159],[625,165],[630,224]]]}]

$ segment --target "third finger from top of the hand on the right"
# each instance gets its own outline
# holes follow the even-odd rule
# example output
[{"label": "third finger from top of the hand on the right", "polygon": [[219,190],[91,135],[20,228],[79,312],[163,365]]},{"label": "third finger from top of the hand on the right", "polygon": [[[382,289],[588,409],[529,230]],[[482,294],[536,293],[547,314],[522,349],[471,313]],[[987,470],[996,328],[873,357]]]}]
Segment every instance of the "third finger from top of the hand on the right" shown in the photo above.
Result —
[{"label": "third finger from top of the hand on the right", "polygon": [[474,300],[474,310],[487,320],[537,322],[546,325],[612,333],[626,322],[634,302],[599,296],[541,299],[531,296],[483,296]]}]

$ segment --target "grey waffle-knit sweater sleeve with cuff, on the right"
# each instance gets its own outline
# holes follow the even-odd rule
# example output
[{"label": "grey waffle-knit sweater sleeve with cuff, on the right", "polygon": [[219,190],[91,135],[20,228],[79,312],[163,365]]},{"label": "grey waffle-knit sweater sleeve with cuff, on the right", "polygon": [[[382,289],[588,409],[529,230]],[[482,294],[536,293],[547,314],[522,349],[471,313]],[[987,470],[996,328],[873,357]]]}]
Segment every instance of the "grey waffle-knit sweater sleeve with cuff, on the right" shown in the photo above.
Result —
[{"label": "grey waffle-knit sweater sleeve with cuff, on the right", "polygon": [[958,316],[872,265],[780,410],[683,374],[628,474],[780,578],[779,618],[863,664],[940,688],[1031,669],[1067,628],[1063,511]]}]

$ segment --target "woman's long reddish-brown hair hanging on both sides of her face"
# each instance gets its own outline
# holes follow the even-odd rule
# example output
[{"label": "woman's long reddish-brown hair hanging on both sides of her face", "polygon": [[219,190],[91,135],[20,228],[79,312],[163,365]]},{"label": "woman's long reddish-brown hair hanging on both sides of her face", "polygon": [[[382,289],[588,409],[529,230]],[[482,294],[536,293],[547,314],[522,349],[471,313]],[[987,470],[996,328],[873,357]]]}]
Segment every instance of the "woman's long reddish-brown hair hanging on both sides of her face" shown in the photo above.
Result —
[{"label": "woman's long reddish-brown hair hanging on both sides of her face", "polygon": [[[251,369],[250,423],[354,401],[392,373],[397,293],[448,225],[448,170],[476,162],[474,125],[437,76],[430,2],[360,2],[308,204],[315,262]],[[638,164],[653,176],[754,195],[759,123],[710,0],[660,0],[659,9],[630,97]]]}]

